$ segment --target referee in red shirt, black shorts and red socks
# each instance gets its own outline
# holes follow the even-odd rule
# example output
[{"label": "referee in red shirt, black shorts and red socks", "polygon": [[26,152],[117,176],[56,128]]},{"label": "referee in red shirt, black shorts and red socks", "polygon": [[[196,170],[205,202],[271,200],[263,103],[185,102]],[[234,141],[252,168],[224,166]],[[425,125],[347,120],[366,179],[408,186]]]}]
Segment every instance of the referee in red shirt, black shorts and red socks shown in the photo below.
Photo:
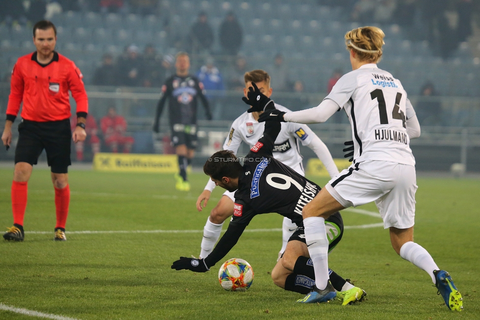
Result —
[{"label": "referee in red shirt, black shorts and red socks", "polygon": [[[37,22],[33,26],[33,43],[36,52],[18,58],[13,67],[5,129],[1,136],[8,150],[12,141],[12,124],[23,101],[12,182],[13,227],[8,228],[3,238],[24,239],[27,183],[33,165],[37,164],[40,153],[45,149],[55,188],[57,225],[54,239],[65,241],[65,222],[70,203],[67,174],[71,165],[70,139],[77,143],[87,137],[88,98],[82,73],[75,63],[54,51],[57,43],[54,24],[46,20]],[[73,134],[68,90],[77,102],[77,126]]]}]

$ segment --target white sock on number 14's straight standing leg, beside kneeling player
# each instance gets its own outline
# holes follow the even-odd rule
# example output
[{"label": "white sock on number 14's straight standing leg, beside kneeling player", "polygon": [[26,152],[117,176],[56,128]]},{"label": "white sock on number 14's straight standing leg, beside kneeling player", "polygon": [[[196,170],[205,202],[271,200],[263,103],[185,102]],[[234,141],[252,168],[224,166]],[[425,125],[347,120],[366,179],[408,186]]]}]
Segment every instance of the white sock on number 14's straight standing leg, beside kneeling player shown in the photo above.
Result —
[{"label": "white sock on number 14's straight standing leg, beside kneeling player", "polygon": [[325,229],[325,219],[309,217],[303,219],[305,241],[315,271],[315,285],[324,290],[329,281],[329,240]]}]

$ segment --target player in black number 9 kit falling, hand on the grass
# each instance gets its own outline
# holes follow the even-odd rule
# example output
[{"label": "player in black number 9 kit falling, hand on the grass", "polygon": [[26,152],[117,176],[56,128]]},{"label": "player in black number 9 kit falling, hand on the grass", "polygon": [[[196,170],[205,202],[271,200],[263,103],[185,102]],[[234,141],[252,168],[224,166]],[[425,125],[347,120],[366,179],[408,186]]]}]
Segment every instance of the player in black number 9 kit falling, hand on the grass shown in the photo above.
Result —
[{"label": "player in black number 9 kit falling, hand on the grass", "polygon": [[[275,109],[273,101],[258,90],[252,83],[248,99],[243,100],[252,105],[255,111]],[[271,124],[274,122],[275,124]],[[234,215],[227,231],[205,259],[180,257],[173,263],[176,270],[187,269],[206,272],[220,261],[235,246],[240,235],[254,216],[276,212],[298,225],[291,236],[287,248],[272,270],[274,283],[288,291],[308,293],[314,284],[313,264],[309,259],[308,248],[303,235],[301,210],[320,191],[314,182],[299,175],[290,167],[275,160],[272,156],[274,141],[281,126],[276,121],[265,124],[264,135],[243,158],[239,159],[228,150],[214,153],[205,163],[204,172],[210,175],[216,185],[228,191],[235,191]],[[339,212],[326,219],[326,228],[330,231],[329,251],[340,241],[343,235],[343,220]],[[337,295],[343,304],[361,301],[366,295],[360,288],[354,287],[329,270],[329,284],[332,291],[341,291]]]}]

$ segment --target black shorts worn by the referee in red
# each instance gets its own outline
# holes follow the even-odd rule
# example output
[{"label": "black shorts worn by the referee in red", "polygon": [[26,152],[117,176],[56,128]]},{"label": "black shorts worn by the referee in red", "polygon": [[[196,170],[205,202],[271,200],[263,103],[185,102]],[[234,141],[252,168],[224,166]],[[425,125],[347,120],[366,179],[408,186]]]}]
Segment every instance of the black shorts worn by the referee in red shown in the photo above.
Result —
[{"label": "black shorts worn by the referee in red", "polygon": [[42,150],[47,153],[47,163],[55,174],[66,174],[70,161],[70,120],[37,122],[22,120],[18,125],[18,143],[15,164],[27,162],[36,165]]}]

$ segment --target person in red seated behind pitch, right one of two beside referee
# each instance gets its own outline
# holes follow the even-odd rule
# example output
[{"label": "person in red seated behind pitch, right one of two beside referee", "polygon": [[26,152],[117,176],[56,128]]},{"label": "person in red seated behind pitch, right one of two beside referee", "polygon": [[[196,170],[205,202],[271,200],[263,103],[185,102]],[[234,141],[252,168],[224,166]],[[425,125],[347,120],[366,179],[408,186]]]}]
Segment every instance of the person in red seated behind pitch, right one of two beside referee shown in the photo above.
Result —
[{"label": "person in red seated behind pitch, right one of two beside referee", "polygon": [[132,149],[133,138],[125,136],[127,130],[127,122],[123,116],[117,115],[114,107],[108,108],[108,114],[100,120],[105,145],[112,152],[119,152],[119,147],[123,146],[123,153],[129,153]]}]

